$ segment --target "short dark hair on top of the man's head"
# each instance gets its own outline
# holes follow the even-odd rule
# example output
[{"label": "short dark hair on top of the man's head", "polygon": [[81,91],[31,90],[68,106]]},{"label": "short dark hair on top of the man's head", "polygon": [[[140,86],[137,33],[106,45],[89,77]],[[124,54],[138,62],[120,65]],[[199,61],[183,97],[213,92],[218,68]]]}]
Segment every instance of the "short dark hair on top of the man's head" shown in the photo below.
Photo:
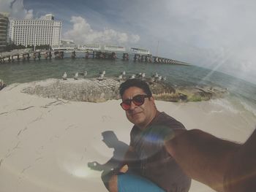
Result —
[{"label": "short dark hair on top of the man's head", "polygon": [[119,93],[121,97],[124,95],[124,91],[131,87],[141,88],[148,96],[152,96],[152,92],[150,91],[147,82],[140,79],[129,79],[121,83],[119,87]]}]

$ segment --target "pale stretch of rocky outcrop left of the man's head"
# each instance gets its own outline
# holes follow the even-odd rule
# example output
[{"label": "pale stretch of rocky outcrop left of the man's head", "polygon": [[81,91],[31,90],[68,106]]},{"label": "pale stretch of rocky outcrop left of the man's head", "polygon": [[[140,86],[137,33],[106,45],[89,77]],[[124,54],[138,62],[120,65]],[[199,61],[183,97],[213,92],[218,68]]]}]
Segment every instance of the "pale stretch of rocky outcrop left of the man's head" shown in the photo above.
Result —
[{"label": "pale stretch of rocky outcrop left of the man's head", "polygon": [[53,80],[46,85],[37,82],[34,86],[25,88],[23,93],[69,101],[101,102],[118,99],[119,85],[120,82],[113,79]]}]

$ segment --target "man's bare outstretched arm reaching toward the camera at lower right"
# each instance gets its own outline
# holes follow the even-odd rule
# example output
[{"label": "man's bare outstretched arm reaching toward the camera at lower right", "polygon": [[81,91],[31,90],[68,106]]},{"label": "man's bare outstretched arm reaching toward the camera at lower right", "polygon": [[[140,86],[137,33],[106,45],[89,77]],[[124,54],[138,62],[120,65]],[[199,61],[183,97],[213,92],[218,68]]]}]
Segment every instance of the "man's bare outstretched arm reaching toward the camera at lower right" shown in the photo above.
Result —
[{"label": "man's bare outstretched arm reaching toward the camera at lower right", "polygon": [[194,129],[174,132],[165,147],[189,177],[222,192],[227,165],[241,145]]}]

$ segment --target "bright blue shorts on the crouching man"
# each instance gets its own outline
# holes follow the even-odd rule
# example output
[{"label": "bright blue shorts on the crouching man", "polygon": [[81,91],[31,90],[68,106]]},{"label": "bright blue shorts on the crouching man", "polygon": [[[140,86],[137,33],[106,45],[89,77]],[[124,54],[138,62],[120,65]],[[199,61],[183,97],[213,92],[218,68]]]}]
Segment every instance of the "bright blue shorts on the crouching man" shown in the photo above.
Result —
[{"label": "bright blue shorts on the crouching man", "polygon": [[156,184],[137,174],[118,174],[118,192],[164,192]]}]

